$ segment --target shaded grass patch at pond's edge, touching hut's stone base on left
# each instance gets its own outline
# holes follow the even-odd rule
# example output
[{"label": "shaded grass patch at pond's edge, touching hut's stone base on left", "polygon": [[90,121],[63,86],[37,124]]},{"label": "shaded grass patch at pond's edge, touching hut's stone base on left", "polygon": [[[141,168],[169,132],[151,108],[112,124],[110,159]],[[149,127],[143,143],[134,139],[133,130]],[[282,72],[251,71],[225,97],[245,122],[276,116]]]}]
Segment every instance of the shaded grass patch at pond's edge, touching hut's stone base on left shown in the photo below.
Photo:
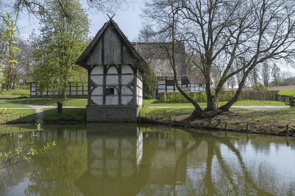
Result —
[{"label": "shaded grass patch at pond's edge, touching hut's stone base on left", "polygon": [[62,108],[62,114],[58,110],[44,109],[44,122],[86,122],[86,108]]}]

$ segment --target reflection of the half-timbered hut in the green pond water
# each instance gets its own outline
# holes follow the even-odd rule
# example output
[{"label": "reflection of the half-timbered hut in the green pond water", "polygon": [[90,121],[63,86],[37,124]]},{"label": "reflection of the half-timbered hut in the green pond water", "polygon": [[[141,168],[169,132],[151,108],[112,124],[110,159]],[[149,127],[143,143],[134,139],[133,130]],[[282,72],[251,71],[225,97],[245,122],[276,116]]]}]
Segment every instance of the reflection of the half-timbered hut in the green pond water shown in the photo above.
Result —
[{"label": "reflection of the half-timbered hut in the green pond water", "polygon": [[[142,133],[136,124],[88,124],[88,170],[75,182],[84,195],[135,195],[141,187],[137,159]],[[138,132],[138,137],[137,137]],[[134,186],[136,185],[136,186]]]}]

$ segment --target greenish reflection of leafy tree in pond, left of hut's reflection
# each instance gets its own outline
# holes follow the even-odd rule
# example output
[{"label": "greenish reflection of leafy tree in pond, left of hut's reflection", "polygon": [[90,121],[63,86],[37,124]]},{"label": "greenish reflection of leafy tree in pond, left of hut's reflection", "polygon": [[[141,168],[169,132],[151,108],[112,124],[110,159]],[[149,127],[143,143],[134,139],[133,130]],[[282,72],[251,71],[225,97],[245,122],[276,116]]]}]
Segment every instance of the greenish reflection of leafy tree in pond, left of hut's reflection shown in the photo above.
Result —
[{"label": "greenish reflection of leafy tree in pond, left of hut's reflection", "polygon": [[[57,136],[59,147],[38,157],[37,167],[29,174],[29,185],[25,194],[30,195],[81,195],[74,186],[87,170],[86,131],[50,132]],[[40,137],[40,145],[47,143],[48,137]]]}]

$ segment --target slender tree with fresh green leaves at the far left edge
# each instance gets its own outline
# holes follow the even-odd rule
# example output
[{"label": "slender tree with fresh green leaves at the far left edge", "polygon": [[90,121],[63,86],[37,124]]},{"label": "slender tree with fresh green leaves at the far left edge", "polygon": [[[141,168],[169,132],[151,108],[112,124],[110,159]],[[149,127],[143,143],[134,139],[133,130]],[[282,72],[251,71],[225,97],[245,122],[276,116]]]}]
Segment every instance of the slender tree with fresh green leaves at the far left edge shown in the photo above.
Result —
[{"label": "slender tree with fresh green leaves at the far left edge", "polygon": [[[0,78],[1,82],[3,83],[3,85],[1,85],[0,93],[2,93],[3,89],[10,82],[9,80],[11,78],[12,71],[15,68],[16,63],[18,63],[16,60],[16,53],[17,53],[17,51],[20,50],[19,48],[16,47],[16,41],[15,41],[15,40],[19,39],[18,37],[15,36],[15,32],[17,30],[16,25],[15,25],[13,19],[11,18],[10,14],[8,14],[6,12],[5,16],[6,17],[3,18],[3,22],[5,25],[4,32],[2,34],[0,34],[0,40],[4,44],[4,47],[6,48],[5,56],[8,59],[8,74],[7,74],[6,79],[4,78],[4,76],[1,76],[1,78]],[[0,67],[1,66],[2,65],[0,65]],[[1,70],[0,70],[0,73],[1,73]]]}]

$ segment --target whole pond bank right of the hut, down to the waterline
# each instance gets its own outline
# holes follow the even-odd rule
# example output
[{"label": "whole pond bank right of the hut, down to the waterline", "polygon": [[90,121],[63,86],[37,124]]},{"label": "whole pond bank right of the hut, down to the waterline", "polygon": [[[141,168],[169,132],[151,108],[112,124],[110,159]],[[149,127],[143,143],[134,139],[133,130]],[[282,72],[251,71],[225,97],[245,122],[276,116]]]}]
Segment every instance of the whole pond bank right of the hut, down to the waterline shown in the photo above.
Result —
[{"label": "whole pond bank right of the hut, down to the waterline", "polygon": [[141,110],[141,123],[163,124],[222,131],[281,136],[295,134],[295,107],[271,110],[231,108],[230,112],[207,119],[191,118],[194,108],[148,108]]}]

